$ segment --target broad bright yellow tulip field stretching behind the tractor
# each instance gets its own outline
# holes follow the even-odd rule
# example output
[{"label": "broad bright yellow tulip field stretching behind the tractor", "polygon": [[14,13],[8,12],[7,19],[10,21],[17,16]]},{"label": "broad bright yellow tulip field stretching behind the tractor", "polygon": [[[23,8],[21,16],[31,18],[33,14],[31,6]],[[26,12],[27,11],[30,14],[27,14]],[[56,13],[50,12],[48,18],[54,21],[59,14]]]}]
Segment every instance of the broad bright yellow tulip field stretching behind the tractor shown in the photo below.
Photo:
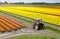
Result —
[{"label": "broad bright yellow tulip field stretching behind the tractor", "polygon": [[0,7],[0,10],[22,15],[32,19],[42,18],[44,22],[60,26],[60,9],[47,7]]}]

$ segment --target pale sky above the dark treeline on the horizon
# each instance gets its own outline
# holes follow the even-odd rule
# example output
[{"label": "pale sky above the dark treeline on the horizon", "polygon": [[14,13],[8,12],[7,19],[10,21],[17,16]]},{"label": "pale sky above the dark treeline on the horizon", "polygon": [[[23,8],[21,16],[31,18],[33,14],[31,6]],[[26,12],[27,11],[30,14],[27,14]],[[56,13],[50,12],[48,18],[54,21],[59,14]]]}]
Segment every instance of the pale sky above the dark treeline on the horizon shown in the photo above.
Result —
[{"label": "pale sky above the dark treeline on the horizon", "polygon": [[46,3],[60,3],[60,0],[0,0],[0,2],[8,1],[8,2],[25,2],[25,3],[31,3],[31,2],[46,2]]}]

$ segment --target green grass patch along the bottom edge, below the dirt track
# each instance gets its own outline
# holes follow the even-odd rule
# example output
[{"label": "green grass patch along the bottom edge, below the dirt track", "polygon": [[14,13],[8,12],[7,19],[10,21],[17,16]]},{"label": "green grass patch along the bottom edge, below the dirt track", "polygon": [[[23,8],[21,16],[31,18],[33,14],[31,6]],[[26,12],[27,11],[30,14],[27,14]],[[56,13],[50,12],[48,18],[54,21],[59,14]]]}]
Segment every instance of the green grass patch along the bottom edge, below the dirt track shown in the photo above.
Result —
[{"label": "green grass patch along the bottom edge, below the dirt track", "polygon": [[57,39],[57,37],[40,36],[40,35],[22,35],[22,36],[11,37],[10,39]]}]

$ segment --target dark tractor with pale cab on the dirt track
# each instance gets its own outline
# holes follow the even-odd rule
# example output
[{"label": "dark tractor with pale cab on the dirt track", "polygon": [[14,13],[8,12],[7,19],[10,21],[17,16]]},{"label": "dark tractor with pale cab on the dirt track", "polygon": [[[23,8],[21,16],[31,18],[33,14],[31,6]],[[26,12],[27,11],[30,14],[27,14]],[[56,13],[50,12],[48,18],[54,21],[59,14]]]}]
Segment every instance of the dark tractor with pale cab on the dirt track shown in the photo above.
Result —
[{"label": "dark tractor with pale cab on the dirt track", "polygon": [[44,23],[42,23],[42,19],[37,19],[34,21],[33,29],[44,30]]}]

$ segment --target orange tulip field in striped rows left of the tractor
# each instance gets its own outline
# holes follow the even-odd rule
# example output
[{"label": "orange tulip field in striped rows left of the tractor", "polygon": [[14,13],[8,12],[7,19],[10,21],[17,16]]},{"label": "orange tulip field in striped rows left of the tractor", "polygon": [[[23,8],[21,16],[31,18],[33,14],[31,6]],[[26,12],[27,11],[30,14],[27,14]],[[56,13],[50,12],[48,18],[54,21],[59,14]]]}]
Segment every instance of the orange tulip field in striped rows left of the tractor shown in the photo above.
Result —
[{"label": "orange tulip field in striped rows left of the tractor", "polygon": [[0,15],[0,32],[17,30],[23,27],[23,24],[10,20],[9,18]]}]

